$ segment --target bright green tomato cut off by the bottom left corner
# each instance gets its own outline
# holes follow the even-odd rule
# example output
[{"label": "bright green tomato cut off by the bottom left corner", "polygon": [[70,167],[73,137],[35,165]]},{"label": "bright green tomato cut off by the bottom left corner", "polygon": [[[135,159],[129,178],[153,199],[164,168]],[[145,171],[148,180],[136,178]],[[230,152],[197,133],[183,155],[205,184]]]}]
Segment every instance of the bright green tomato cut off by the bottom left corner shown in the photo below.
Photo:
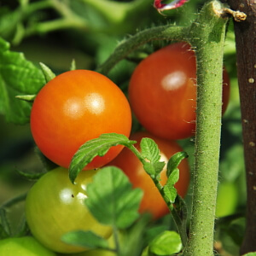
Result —
[{"label": "bright green tomato cut off by the bottom left corner", "polygon": [[32,236],[10,237],[0,241],[0,255],[4,256],[55,256],[56,254]]}]

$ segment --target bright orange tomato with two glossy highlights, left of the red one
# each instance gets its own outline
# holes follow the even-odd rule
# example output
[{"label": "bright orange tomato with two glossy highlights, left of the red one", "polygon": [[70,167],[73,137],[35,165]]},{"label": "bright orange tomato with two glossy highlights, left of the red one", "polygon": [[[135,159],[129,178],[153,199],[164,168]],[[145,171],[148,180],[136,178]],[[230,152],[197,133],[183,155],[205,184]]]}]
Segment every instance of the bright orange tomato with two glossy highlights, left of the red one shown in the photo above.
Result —
[{"label": "bright orange tomato with two glossy highlights, left of the red one", "polygon": [[[90,139],[116,132],[129,137],[131,108],[116,84],[89,70],[61,73],[45,84],[32,105],[32,137],[42,153],[68,168],[73,154]],[[123,146],[96,156],[84,170],[107,164]]]}]

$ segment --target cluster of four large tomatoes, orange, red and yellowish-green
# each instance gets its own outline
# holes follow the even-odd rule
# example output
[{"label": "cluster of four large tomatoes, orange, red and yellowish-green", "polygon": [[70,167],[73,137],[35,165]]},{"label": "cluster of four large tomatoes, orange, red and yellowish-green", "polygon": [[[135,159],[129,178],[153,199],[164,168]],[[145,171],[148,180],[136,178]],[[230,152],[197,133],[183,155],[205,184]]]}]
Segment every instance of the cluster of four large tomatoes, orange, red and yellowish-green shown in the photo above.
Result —
[{"label": "cluster of four large tomatoes, orange, red and yellowish-green", "polygon": [[[118,166],[133,187],[143,189],[140,212],[151,212],[154,219],[169,212],[160,192],[128,148],[114,146],[104,156],[96,156],[79,174],[76,184],[68,179],[67,168],[73,154],[85,142],[103,133],[130,136],[131,109],[148,131],[131,135],[140,150],[140,141],[149,137],[158,144],[161,160],[183,151],[177,139],[195,131],[196,67],[189,44],[177,43],[149,55],[131,76],[129,100],[116,84],[88,70],[62,73],[44,85],[32,105],[32,137],[42,153],[57,164],[35,183],[26,198],[26,219],[32,235],[45,247],[60,253],[77,253],[84,248],[61,241],[71,230],[92,230],[108,237],[111,228],[102,226],[84,206],[86,184],[106,165]],[[229,98],[229,81],[224,72],[224,109]],[[130,107],[131,104],[131,107]],[[185,196],[189,187],[189,164],[178,166],[180,178],[175,187]],[[166,183],[166,167],[160,174]]]}]

